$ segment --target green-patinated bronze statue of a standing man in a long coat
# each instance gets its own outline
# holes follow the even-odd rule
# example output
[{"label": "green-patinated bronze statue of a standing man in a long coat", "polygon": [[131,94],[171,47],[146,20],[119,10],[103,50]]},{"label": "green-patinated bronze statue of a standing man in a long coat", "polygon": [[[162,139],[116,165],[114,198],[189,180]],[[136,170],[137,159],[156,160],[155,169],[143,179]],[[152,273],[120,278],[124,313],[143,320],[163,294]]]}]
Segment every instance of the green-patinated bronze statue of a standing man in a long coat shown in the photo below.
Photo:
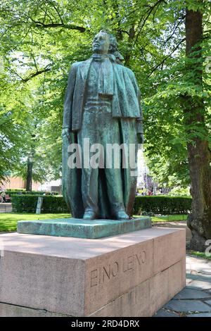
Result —
[{"label": "green-patinated bronze statue of a standing man in a long coat", "polygon": [[[101,153],[99,163],[103,160],[103,166],[96,168],[89,162],[94,155],[91,149],[88,156],[83,151],[89,139],[90,146],[100,144],[103,153],[113,144],[133,145],[137,152],[138,142],[143,142],[139,87],[132,70],[120,63],[115,37],[99,32],[92,49],[93,56],[74,63],[68,77],[63,114],[63,195],[75,218],[127,220],[136,194],[136,174],[130,162],[122,167],[129,154],[122,152],[117,167],[110,161],[111,154]],[[79,166],[68,163],[70,144],[80,146]]]}]

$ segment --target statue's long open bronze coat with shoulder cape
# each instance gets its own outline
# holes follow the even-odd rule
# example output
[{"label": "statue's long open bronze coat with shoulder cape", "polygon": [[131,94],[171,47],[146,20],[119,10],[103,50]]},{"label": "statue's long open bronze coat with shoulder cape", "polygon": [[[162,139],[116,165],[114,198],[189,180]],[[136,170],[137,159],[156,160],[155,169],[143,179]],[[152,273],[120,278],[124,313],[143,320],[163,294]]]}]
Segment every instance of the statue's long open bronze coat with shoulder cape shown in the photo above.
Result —
[{"label": "statue's long open bronze coat with shoulder cape", "polygon": [[[72,216],[75,218],[82,218],[84,214],[81,191],[82,169],[68,167],[68,157],[70,156],[68,145],[70,142],[77,143],[77,132],[82,125],[86,82],[89,78],[91,61],[90,58],[87,61],[72,65],[68,77],[63,113],[63,128],[70,130],[70,141],[67,137],[63,137],[63,196],[72,212]],[[137,151],[136,134],[138,132],[143,133],[139,87],[132,70],[123,65],[113,63],[113,78],[112,113],[114,118],[120,120],[121,144],[136,144]],[[122,169],[122,187],[124,206],[130,215],[136,194],[136,175],[132,175],[130,168]],[[108,203],[106,180],[101,171],[99,173],[98,205],[101,218],[112,217]]]}]

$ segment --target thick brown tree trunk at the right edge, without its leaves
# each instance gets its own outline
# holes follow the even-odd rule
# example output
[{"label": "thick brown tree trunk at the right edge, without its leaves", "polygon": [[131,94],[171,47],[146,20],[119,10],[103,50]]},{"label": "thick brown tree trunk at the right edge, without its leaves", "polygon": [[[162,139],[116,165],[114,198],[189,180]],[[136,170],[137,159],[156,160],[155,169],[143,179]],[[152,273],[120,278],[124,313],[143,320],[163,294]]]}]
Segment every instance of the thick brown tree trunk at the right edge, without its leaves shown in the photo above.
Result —
[{"label": "thick brown tree trunk at the right edge, without its leaves", "polygon": [[[203,15],[186,10],[186,57],[188,73],[194,73],[191,84],[203,92],[202,52],[198,43],[203,39]],[[194,49],[193,49],[194,48]],[[184,97],[184,118],[188,134],[188,164],[191,176],[192,213],[188,227],[192,232],[190,249],[205,251],[211,239],[211,172],[208,132],[205,126],[205,106],[202,96]],[[197,132],[200,132],[198,135]]]}]

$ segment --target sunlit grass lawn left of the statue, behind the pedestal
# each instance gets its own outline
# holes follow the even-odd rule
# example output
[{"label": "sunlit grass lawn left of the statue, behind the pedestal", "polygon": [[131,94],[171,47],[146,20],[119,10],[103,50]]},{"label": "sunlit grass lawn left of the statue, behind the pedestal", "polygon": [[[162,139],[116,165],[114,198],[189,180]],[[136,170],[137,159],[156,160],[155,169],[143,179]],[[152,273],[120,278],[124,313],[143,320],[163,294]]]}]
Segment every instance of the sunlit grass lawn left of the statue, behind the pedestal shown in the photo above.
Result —
[{"label": "sunlit grass lawn left of the statue, behind the pedestal", "polygon": [[44,220],[46,218],[68,218],[70,214],[0,213],[0,232],[16,231],[18,220]]}]

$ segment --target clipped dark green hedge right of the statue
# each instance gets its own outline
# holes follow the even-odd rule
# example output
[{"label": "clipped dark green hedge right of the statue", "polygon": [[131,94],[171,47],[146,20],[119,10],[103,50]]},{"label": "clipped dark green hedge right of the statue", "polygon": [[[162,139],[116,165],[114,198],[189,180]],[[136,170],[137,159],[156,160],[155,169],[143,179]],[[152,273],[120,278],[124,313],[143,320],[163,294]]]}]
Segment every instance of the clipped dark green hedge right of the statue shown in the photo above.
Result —
[{"label": "clipped dark green hedge right of the statue", "polygon": [[188,196],[136,196],[133,213],[185,214],[191,211],[191,202]]}]

